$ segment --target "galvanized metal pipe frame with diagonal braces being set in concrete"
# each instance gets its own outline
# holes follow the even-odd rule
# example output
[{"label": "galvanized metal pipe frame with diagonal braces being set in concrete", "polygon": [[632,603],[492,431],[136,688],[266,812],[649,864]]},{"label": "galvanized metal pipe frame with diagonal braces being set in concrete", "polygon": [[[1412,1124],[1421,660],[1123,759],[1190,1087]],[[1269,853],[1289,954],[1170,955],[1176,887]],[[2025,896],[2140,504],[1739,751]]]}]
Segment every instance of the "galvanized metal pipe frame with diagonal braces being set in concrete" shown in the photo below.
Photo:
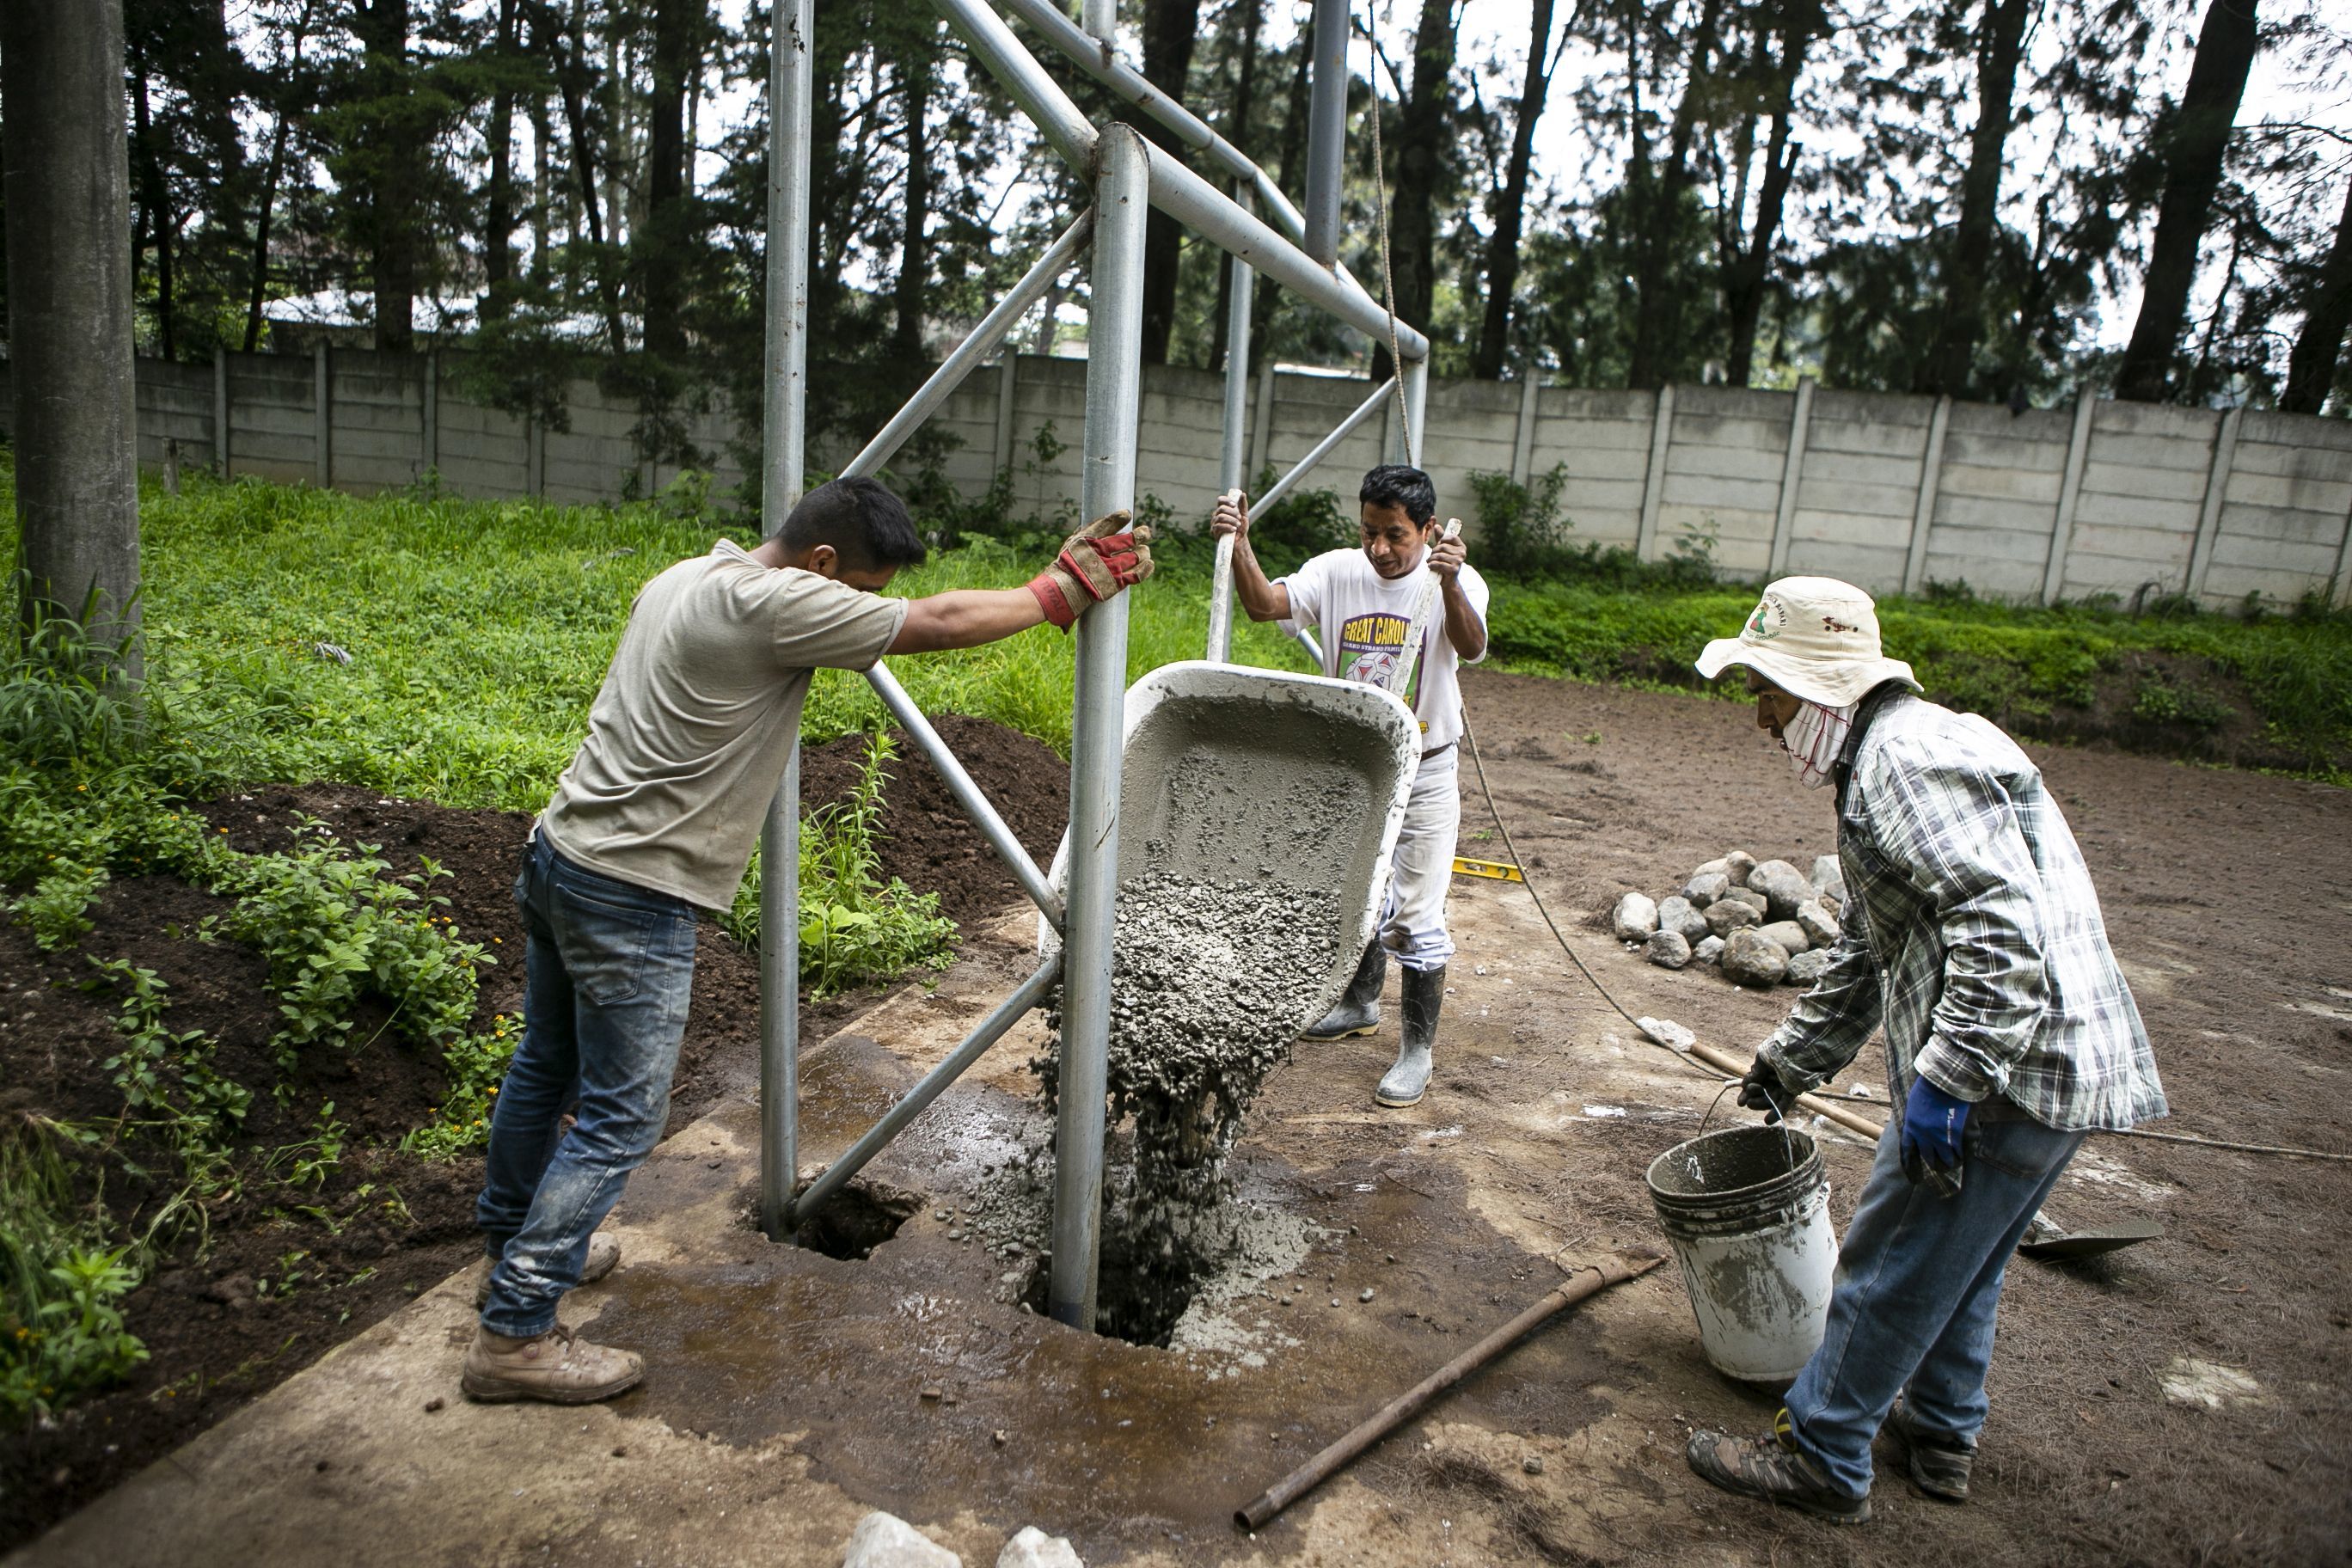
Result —
[{"label": "galvanized metal pipe frame with diagonal braces being set in concrete", "polygon": [[[1087,433],[1082,444],[1082,508],[1101,517],[1134,505],[1136,423],[1141,411],[1141,324],[1143,324],[1143,228],[1145,212],[1157,205],[1178,223],[1202,233],[1232,256],[1232,294],[1228,306],[1225,364],[1225,440],[1218,463],[1221,487],[1242,484],[1247,461],[1249,400],[1249,313],[1254,270],[1263,270],[1308,303],[1315,303],[1357,329],[1392,334],[1404,364],[1406,430],[1414,454],[1421,451],[1421,416],[1428,390],[1428,339],[1388,315],[1343,266],[1336,254],[1317,261],[1298,249],[1310,233],[1331,235],[1336,252],[1338,181],[1310,179],[1310,214],[1301,214],[1268,174],[1232,143],[1211,132],[1181,103],[1160,94],[1141,75],[1115,59],[1117,2],[1087,0],[1087,26],[1077,28],[1049,0],[1002,0],[1035,26],[1080,68],[1108,85],[1122,99],[1145,110],[1185,143],[1202,148],[1232,174],[1235,197],[1145,143],[1131,127],[1096,129],[1023,49],[988,0],[934,0],[967,38],[974,54],[997,75],[1000,85],[1035,120],[1047,141],[1096,186],[1096,207],[1082,214],[1018,284],[981,320],[948,355],[903,409],[844,465],[842,475],[880,470],[898,447],[948,400],[948,395],[985,360],[1068,270],[1077,249],[1094,240],[1091,317],[1087,331]],[[1345,0],[1317,0],[1317,113],[1312,167],[1338,165],[1345,134]],[[767,402],[764,402],[764,489],[762,520],[767,531],[781,527],[797,501],[804,473],[804,402],[807,402],[807,249],[809,249],[809,12],[811,0],[779,0],[769,56],[769,247],[767,247]],[[1327,73],[1324,35],[1341,45]],[[1338,108],[1324,101],[1327,80]],[[1268,205],[1275,226],[1251,212],[1251,197]],[[1319,216],[1317,216],[1319,214]],[[1315,249],[1310,244],[1310,249]],[[1301,463],[1275,484],[1258,505],[1282,498],[1315,463],[1369,418],[1395,381],[1383,383],[1359,409],[1324,437]],[[1232,552],[1218,550],[1211,590],[1209,656],[1225,658],[1232,637]],[[1298,639],[1319,649],[1305,632]],[[1120,853],[1120,745],[1127,693],[1127,599],[1096,607],[1077,625],[1077,682],[1070,715],[1070,898],[1063,905],[1028,851],[988,804],[938,731],[929,724],[896,677],[880,663],[868,675],[891,717],[948,780],[957,804],[971,816],[990,849],[1014,870],[1023,891],[1047,922],[1063,933],[1058,959],[1047,959],[1023,980],[971,1034],[908,1091],[849,1152],[809,1185],[797,1201],[797,978],[800,978],[800,748],[795,745],[783,785],[769,804],[762,832],[760,889],[760,1213],[771,1239],[783,1239],[797,1215],[814,1211],[873,1159],[908,1121],[978,1060],[1030,1009],[1040,1006],[1054,983],[1063,983],[1061,1110],[1056,1124],[1054,1166],[1054,1269],[1049,1312],[1065,1324],[1094,1326],[1096,1262],[1101,1251],[1103,1190],[1103,1095],[1110,1053],[1110,966],[1117,905]]]}]

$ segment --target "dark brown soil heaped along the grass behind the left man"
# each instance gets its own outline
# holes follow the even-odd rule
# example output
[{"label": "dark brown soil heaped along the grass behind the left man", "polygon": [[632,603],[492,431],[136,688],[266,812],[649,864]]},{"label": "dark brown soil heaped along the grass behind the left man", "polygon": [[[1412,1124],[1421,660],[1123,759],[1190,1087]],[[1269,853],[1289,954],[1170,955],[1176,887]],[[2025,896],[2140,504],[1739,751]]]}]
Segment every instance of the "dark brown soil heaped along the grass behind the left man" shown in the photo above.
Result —
[{"label": "dark brown soil heaped along the grass behind the left man", "polygon": [[[1068,818],[1068,766],[1051,750],[981,719],[948,717],[941,733],[1040,860]],[[915,891],[938,893],[957,922],[1018,898],[1011,875],[964,820],[938,773],[901,741],[882,811],[882,867]],[[840,799],[858,776],[858,736],[804,757],[802,804]],[[532,818],[513,811],[449,811],[397,802],[348,785],[263,785],[202,806],[207,823],[242,851],[294,842],[299,816],[320,818],[346,844],[374,844],[395,875],[433,860],[447,877],[426,889],[496,964],[482,971],[473,1027],[522,1009],[522,926],[513,905],[517,856]],[[122,1095],[101,1063],[120,1048],[111,990],[94,959],[129,959],[169,987],[167,1025],[205,1030],[214,1063],[247,1086],[275,1081],[270,1034],[278,999],[263,990],[261,954],[202,943],[195,931],[228,903],[174,877],[125,877],[92,910],[94,929],[73,947],[40,952],[16,924],[0,924],[0,1112],[108,1126]],[[875,992],[802,999],[804,1039],[821,1039]],[[0,1552],[71,1514],[125,1474],[176,1448],[230,1410],[266,1394],[346,1338],[463,1267],[480,1251],[473,1199],[480,1154],[426,1161],[402,1154],[402,1133],[426,1124],[447,1088],[440,1053],[362,1013],[350,1053],[306,1053],[287,1100],[254,1093],[240,1138],[240,1168],[318,1133],[320,1105],[343,1126],[341,1159],[310,1182],[285,1175],[308,1150],[285,1152],[263,1180],[207,1201],[202,1227],[186,1229],[125,1300],[125,1321],[148,1347],[122,1385],[71,1406],[52,1422],[0,1432]],[[729,1091],[757,1079],[757,954],[706,922],[694,969],[694,1001],[670,1098],[670,1128],[701,1117]],[[146,1164],[169,1171],[155,1159]],[[96,1182],[101,1154],[82,1180]],[[118,1218],[169,1199],[158,1178],[103,1159],[103,1192]],[[452,1396],[454,1389],[452,1389]]]}]

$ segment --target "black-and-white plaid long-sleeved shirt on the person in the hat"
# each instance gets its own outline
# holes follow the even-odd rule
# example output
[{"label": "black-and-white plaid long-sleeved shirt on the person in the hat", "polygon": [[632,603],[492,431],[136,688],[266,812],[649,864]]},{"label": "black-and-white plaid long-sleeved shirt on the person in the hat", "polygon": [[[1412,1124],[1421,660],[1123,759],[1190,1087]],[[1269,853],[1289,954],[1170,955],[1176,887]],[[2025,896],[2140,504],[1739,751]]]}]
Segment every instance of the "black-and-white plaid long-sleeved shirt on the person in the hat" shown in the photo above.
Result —
[{"label": "black-and-white plaid long-sleeved shirt on the person in the hat", "polygon": [[2065,1131],[2166,1114],[2082,849],[2009,736],[1882,686],[1837,764],[1837,858],[1844,936],[1762,1046],[1790,1088],[1884,1020],[1896,1105],[1917,1074]]}]

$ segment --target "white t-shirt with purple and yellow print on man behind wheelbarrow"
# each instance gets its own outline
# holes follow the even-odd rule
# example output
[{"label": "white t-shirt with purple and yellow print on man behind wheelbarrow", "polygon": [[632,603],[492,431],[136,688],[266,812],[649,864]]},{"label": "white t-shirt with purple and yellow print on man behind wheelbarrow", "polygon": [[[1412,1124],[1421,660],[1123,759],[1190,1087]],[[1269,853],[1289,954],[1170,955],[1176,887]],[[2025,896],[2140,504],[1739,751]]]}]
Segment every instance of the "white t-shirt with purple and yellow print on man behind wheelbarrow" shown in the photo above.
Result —
[{"label": "white t-shirt with purple and yellow print on man behind wheelbarrow", "polygon": [[[1362,550],[1324,550],[1298,571],[1275,581],[1291,590],[1291,621],[1315,628],[1315,642],[1324,651],[1324,675],[1388,686],[1404,639],[1414,630],[1421,595],[1430,590],[1435,576],[1423,567],[1388,581],[1371,569],[1371,557]],[[1470,614],[1484,630],[1486,578],[1465,562],[1461,585],[1463,597],[1470,599]],[[1486,651],[1479,649],[1479,658],[1484,656]],[[1421,632],[1421,663],[1414,670],[1418,691],[1397,693],[1414,705],[1414,717],[1421,719],[1423,752],[1461,741],[1463,691],[1456,670],[1461,670],[1461,654],[1446,637],[1446,604],[1444,597],[1437,597]]]}]

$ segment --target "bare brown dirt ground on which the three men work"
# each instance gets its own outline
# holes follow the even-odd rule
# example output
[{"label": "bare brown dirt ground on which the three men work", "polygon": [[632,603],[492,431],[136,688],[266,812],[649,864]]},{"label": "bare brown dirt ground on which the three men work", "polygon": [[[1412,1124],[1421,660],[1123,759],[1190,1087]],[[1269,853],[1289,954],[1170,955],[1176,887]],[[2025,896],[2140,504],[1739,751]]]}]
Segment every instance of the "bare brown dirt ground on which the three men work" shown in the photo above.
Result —
[{"label": "bare brown dirt ground on which the three men work", "polygon": [[[1653,969],[1590,917],[1618,891],[1656,893],[1726,849],[1804,865],[1830,849],[1830,802],[1799,790],[1733,705],[1496,675],[1472,675],[1465,693],[1512,835],[1585,961],[1630,1011],[1679,1018],[1726,1048],[1752,1046],[1790,992],[1738,992],[1705,971]],[[2157,1039],[2176,1112],[2169,1126],[2352,1147],[2338,1110],[2352,1063],[2352,987],[2340,966],[2352,938],[2343,891],[2352,886],[2352,795],[2150,757],[2034,755],[2100,882]],[[983,785],[997,795],[993,778]],[[1484,802],[1470,773],[1465,785],[1463,853],[1498,856],[1496,842],[1479,839]],[[263,818],[270,804],[235,802]],[[1040,853],[1051,849],[1051,832],[1040,844],[1028,825],[1016,827]],[[482,931],[499,917],[517,837],[508,825],[503,846],[485,842],[459,858],[428,849],[475,889]],[[2169,1227],[2161,1241],[2105,1262],[2020,1260],[2011,1269],[1994,1413],[1969,1507],[1931,1505],[1882,1476],[1879,1521],[1832,1530],[1696,1483],[1682,1465],[1689,1427],[1757,1429],[1771,1399],[1705,1366],[1682,1284],[1665,1267],[1555,1321],[1256,1540],[1240,1537],[1225,1521],[1232,1507],[1548,1288],[1559,1276],[1555,1255],[1656,1246],[1642,1168],[1691,1135],[1715,1095],[1712,1081],[1642,1044],[1566,969],[1522,891],[1463,879],[1454,910],[1461,954],[1437,1081],[1421,1107],[1371,1107],[1369,1088],[1395,1051],[1392,1025],[1301,1053],[1270,1081],[1244,1138],[1242,1185],[1308,1220],[1308,1251],[1232,1309],[1237,1338],[1225,1359],[1047,1326],[1009,1305],[1000,1262],[960,1239],[962,1206],[1037,1131],[1023,1072],[1035,1020],[877,1166],[922,1192],[924,1206],[868,1262],[760,1244],[739,1218],[750,1107],[727,1088],[741,1091],[750,1072],[750,992],[743,976],[706,966],[696,1018],[708,983],[731,1023],[703,1030],[694,1079],[717,1086],[706,1100],[715,1114],[696,1124],[710,1131],[708,1159],[703,1147],[680,1147],[689,1140],[666,1147],[661,1175],[633,1187],[616,1215],[626,1234],[647,1227],[647,1241],[630,1241],[642,1262],[583,1293],[597,1333],[644,1349],[654,1375],[644,1392],[579,1422],[579,1441],[619,1460],[654,1453],[654,1432],[663,1443],[696,1439],[691,1467],[677,1474],[710,1476],[717,1519],[682,1497],[670,1519],[677,1488],[649,1486],[663,1474],[649,1469],[593,1483],[560,1528],[470,1516],[466,1528],[482,1542],[473,1561],[656,1561],[649,1542],[666,1542],[659,1561],[816,1563],[828,1561],[818,1537],[837,1542],[835,1521],[863,1507],[913,1519],[964,1561],[993,1561],[995,1544],[1030,1521],[1073,1535],[1096,1563],[2352,1561],[2352,1309],[2336,1227],[2352,1206],[2352,1173],[2145,1140],[2093,1143],[2051,1208],[2070,1222],[2152,1213]],[[1018,931],[1021,922],[1002,922],[995,936],[976,933],[967,961],[936,990],[896,994],[811,1053],[804,1157],[847,1143],[953,1046],[967,1016],[1004,992],[1023,964]],[[811,1020],[811,1039],[821,1027]],[[1879,1084],[1879,1072],[1872,1046],[1851,1077]],[[1842,1220],[1867,1152],[1832,1143],[1828,1159]],[[456,1192],[470,1194],[463,1182]],[[699,1227],[684,1255],[670,1246],[677,1232],[652,1244],[680,1215]],[[447,1241],[445,1255],[463,1260],[466,1241]],[[428,1258],[414,1262],[409,1274]],[[1374,1302],[1359,1302],[1362,1288]],[[416,1302],[369,1340],[430,1338],[437,1319],[416,1316],[428,1307]],[[461,1321],[461,1307],[435,1309]],[[423,1326],[400,1328],[412,1321]],[[132,1326],[146,1331],[139,1316]],[[355,1314],[341,1333],[358,1328]],[[2166,1399],[2164,1380],[2185,1356],[2237,1368],[2251,1387],[2220,1408]],[[332,1380],[346,1361],[308,1378]],[[134,1385],[92,1410],[153,1408],[160,1387]],[[358,1420],[348,1389],[318,1387],[313,1410]],[[259,1443],[270,1403],[226,1425],[207,1453]],[[421,1427],[426,1441],[482,1453],[517,1429],[499,1425],[510,1413],[466,1408],[454,1394],[447,1410],[440,1399],[402,1408],[409,1415],[386,1410],[336,1439],[353,1446],[353,1465],[365,1443],[390,1441],[386,1432],[402,1425],[442,1422]],[[181,1422],[176,1434],[200,1425]],[[543,1427],[557,1432],[553,1420]],[[609,1432],[640,1436],[623,1443]],[[195,1453],[188,1465],[202,1472],[209,1460]],[[125,1453],[106,1474],[132,1467]],[[85,1514],[40,1561],[134,1561],[92,1556],[94,1542],[132,1526],[167,1540],[151,1497],[174,1495],[169,1469],[155,1467]],[[12,1469],[12,1516],[28,1505],[19,1476],[38,1483],[40,1472]],[[414,1479],[402,1486],[416,1490]],[[92,1488],[73,1490],[87,1497]],[[306,1509],[327,1502],[353,1528],[428,1519],[405,1495],[358,1481],[332,1497],[310,1493],[245,1500],[240,1519],[254,1523],[238,1530],[247,1535],[212,1528],[205,1559],[240,1561],[235,1552],[259,1549],[266,1528],[296,1533]],[[47,1502],[64,1500],[35,1507]],[[219,1502],[172,1507],[183,1509],[174,1514],[183,1530],[221,1512]],[[788,1519],[833,1533],[818,1523],[783,1530]]]}]

